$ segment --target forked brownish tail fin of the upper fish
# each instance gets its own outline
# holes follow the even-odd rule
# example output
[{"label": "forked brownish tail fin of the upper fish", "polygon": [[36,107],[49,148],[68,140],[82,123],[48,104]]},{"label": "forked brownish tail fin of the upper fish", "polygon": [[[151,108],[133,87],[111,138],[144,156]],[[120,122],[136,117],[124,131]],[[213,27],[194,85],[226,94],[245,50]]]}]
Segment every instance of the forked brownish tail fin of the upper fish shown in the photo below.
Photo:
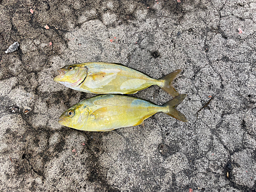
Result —
[{"label": "forked brownish tail fin of the upper fish", "polygon": [[179,93],[173,87],[173,81],[177,78],[177,76],[181,73],[181,69],[177,69],[168,75],[165,75],[160,80],[163,80],[163,83],[159,85],[160,88],[168,92],[173,97],[179,95]]}]

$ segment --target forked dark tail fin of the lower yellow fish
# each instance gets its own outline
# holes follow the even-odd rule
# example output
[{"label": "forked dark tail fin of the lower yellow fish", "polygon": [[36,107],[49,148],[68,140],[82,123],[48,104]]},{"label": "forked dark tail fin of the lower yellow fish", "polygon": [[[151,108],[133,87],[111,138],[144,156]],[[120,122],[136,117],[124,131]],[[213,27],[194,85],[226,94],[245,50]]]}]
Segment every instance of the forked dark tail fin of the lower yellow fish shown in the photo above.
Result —
[{"label": "forked dark tail fin of the lower yellow fish", "polygon": [[163,112],[180,121],[187,122],[187,118],[185,117],[185,115],[175,109],[175,107],[178,104],[180,104],[185,99],[186,96],[187,96],[186,94],[178,95],[177,97],[163,104],[163,106],[167,108],[167,111],[163,111]]}]

